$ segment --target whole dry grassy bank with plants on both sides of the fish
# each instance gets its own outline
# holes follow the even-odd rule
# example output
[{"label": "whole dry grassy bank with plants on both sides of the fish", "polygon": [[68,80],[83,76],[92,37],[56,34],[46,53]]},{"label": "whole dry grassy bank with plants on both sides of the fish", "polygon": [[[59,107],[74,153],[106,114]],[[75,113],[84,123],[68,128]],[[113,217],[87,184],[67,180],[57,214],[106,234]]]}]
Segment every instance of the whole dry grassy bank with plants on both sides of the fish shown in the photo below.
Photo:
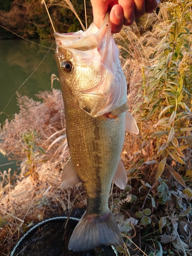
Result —
[{"label": "whole dry grassy bank with plants on both sides of the fish", "polygon": [[[191,6],[166,2],[114,35],[140,130],[126,134],[121,154],[127,186],[114,185],[109,198],[125,242],[120,255],[192,255]],[[69,157],[60,91],[38,97],[18,95],[20,112],[1,130],[7,155],[23,160],[22,173],[4,173],[1,184],[5,255],[34,223],[86,205],[80,184],[59,185]]]}]

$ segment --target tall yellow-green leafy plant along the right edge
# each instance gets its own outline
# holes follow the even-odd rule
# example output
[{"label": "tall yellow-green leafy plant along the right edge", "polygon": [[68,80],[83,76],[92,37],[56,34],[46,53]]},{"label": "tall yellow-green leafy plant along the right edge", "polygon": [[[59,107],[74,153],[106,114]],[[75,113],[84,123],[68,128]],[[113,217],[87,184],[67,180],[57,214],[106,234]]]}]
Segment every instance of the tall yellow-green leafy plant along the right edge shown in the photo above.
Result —
[{"label": "tall yellow-green leafy plant along the right edge", "polygon": [[189,125],[192,117],[191,5],[190,1],[167,3],[167,9],[171,10],[170,25],[154,53],[156,63],[150,68],[150,78],[143,80],[147,97],[144,95],[145,111],[141,119],[150,119],[153,125],[152,132],[143,137],[156,138],[157,157],[170,157],[181,164],[185,164],[182,151],[190,145],[192,131]]}]

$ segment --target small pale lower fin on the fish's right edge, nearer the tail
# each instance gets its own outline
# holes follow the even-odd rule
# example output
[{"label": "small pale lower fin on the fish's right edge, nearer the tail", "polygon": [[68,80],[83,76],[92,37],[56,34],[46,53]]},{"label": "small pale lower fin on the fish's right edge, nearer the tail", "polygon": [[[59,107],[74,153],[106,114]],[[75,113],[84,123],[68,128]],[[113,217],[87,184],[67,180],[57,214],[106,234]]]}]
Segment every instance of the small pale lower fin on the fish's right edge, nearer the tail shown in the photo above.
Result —
[{"label": "small pale lower fin on the fish's right edge, nearer the tail", "polygon": [[127,181],[126,170],[125,170],[124,165],[121,162],[121,160],[119,160],[119,164],[117,166],[116,173],[113,177],[113,182],[119,188],[124,189],[126,186],[126,181]]}]

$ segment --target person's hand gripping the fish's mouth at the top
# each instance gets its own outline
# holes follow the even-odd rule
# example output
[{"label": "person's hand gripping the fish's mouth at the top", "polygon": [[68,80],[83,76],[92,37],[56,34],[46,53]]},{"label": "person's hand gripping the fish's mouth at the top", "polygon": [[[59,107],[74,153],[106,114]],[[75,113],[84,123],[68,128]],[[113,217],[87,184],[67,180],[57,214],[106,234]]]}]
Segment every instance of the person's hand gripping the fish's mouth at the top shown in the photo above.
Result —
[{"label": "person's hand gripping the fish's mouth at the top", "polygon": [[118,33],[123,25],[130,26],[136,17],[153,12],[160,0],[91,0],[95,25],[100,28],[105,14],[110,10],[112,33]]}]

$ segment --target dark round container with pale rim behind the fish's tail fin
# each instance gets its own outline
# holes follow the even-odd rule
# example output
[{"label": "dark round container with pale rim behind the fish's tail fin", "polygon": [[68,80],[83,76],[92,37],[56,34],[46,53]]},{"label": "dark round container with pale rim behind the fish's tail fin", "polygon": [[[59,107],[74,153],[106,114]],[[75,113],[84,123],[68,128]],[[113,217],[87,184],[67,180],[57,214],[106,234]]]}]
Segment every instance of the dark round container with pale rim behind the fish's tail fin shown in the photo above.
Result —
[{"label": "dark round container with pale rim behind the fish's tail fin", "polygon": [[69,250],[69,239],[78,221],[73,217],[56,217],[38,223],[18,241],[10,256],[118,256],[114,246],[102,245],[81,252]]}]

